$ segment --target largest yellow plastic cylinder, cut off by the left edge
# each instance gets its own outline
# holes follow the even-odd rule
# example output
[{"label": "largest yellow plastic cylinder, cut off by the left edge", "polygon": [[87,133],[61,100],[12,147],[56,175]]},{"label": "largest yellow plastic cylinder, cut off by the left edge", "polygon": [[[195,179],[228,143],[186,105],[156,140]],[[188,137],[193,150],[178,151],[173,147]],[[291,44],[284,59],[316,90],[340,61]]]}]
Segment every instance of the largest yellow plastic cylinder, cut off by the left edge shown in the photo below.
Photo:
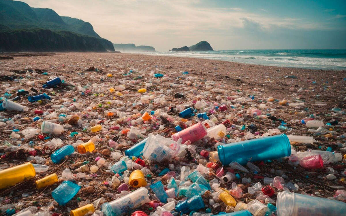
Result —
[{"label": "largest yellow plastic cylinder, cut off by the left edge", "polygon": [[33,178],[35,176],[36,172],[34,166],[30,162],[1,170],[0,189],[16,185],[25,179]]}]

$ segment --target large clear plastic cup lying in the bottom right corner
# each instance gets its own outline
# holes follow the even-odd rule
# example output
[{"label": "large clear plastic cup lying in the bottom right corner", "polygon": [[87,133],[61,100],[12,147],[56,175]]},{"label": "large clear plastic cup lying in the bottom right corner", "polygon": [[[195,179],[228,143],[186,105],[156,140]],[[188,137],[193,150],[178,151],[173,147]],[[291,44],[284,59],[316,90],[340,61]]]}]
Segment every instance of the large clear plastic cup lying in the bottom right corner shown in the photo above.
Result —
[{"label": "large clear plastic cup lying in the bottom right corner", "polygon": [[278,216],[335,216],[345,215],[346,203],[285,190],[277,195],[276,208]]}]

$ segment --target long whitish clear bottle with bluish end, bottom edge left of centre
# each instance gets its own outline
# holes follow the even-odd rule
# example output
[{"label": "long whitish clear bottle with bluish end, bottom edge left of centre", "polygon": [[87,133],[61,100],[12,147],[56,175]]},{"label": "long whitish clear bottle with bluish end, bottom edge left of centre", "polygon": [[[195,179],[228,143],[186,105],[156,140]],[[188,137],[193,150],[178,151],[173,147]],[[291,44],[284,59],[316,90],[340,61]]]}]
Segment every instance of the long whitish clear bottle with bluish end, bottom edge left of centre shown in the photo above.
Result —
[{"label": "long whitish clear bottle with bluish end, bottom edge left of centre", "polygon": [[120,216],[129,213],[131,209],[136,209],[145,203],[149,203],[148,189],[140,187],[137,190],[102,205],[102,212],[106,216]]}]

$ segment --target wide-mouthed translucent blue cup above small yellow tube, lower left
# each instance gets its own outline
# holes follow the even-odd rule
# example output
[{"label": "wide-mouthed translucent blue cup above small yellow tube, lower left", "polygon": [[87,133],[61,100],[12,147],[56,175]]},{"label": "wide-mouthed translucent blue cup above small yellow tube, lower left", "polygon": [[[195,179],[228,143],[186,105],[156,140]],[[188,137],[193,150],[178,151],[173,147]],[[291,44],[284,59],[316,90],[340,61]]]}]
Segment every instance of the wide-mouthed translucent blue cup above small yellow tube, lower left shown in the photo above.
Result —
[{"label": "wide-mouthed translucent blue cup above small yellow tube, lower left", "polygon": [[52,197],[61,206],[68,203],[81,189],[81,186],[71,181],[64,181],[52,191]]}]

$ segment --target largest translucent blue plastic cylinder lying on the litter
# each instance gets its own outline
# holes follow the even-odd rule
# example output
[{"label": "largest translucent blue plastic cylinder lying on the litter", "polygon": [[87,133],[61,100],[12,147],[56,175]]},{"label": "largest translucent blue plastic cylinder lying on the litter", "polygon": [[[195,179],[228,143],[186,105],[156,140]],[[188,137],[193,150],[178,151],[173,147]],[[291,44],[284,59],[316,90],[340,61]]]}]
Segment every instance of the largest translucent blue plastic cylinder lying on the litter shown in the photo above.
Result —
[{"label": "largest translucent blue plastic cylinder lying on the litter", "polygon": [[245,140],[219,145],[217,153],[222,165],[237,161],[245,165],[248,161],[265,161],[291,155],[291,145],[286,134]]}]

